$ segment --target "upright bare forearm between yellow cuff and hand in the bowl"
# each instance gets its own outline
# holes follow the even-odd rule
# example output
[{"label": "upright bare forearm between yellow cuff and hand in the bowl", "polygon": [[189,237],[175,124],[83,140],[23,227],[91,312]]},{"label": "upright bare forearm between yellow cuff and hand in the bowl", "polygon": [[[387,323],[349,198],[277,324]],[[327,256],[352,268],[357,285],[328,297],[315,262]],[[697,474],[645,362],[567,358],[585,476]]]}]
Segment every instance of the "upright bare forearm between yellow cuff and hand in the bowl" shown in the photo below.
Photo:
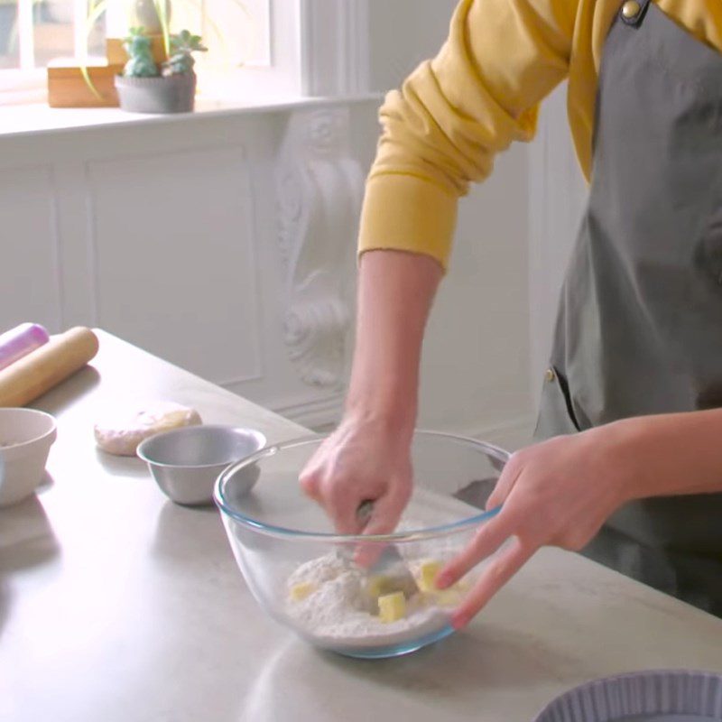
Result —
[{"label": "upright bare forearm between yellow cuff and hand in the bowl", "polygon": [[362,256],[347,412],[412,428],[423,332],[442,275],[440,264],[426,255]]}]

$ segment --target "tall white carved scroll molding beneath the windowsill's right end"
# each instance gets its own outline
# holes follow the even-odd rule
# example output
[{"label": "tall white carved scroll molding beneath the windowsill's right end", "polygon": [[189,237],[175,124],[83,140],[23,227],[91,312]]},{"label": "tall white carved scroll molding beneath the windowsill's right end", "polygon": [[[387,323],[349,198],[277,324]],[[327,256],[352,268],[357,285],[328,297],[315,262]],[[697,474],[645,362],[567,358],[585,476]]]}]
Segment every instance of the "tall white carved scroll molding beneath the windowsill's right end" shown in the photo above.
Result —
[{"label": "tall white carved scroll molding beneath the windowsill's right end", "polygon": [[364,173],[347,107],[293,113],[277,169],[283,338],[301,380],[338,387],[347,368]]}]

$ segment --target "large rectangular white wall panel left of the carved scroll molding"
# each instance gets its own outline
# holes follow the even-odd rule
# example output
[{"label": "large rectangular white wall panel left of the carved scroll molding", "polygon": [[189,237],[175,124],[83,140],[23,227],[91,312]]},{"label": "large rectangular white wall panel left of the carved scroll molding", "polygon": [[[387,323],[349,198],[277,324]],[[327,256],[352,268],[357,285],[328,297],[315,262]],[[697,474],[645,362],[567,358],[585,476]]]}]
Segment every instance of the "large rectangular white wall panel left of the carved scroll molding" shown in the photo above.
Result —
[{"label": "large rectangular white wall panel left of the carved scroll molding", "polygon": [[97,325],[219,384],[262,374],[241,145],[88,163]]}]

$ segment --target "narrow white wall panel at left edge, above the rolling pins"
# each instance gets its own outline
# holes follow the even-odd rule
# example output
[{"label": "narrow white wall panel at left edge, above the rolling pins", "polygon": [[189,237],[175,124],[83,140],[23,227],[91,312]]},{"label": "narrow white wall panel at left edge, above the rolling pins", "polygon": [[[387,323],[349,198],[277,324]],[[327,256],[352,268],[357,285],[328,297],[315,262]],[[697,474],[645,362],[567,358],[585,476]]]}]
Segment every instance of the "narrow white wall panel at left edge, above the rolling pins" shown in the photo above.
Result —
[{"label": "narrow white wall panel at left edge, above the rolling pins", "polygon": [[50,166],[0,170],[0,329],[62,325],[59,237]]}]

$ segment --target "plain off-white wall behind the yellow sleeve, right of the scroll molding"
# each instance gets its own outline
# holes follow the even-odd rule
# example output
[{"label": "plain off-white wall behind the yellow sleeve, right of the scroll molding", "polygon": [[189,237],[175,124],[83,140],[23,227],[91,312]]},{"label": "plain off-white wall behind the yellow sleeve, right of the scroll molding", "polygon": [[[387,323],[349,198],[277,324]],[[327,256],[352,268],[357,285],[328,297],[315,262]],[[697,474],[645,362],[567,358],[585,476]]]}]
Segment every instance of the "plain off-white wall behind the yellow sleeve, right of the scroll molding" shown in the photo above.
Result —
[{"label": "plain off-white wall behind the yellow sleeve, right of the scroll molding", "polygon": [[[454,0],[371,0],[373,87],[397,87],[445,40]],[[424,347],[421,424],[515,447],[532,425],[528,149],[504,153],[461,202],[448,277]]]}]

